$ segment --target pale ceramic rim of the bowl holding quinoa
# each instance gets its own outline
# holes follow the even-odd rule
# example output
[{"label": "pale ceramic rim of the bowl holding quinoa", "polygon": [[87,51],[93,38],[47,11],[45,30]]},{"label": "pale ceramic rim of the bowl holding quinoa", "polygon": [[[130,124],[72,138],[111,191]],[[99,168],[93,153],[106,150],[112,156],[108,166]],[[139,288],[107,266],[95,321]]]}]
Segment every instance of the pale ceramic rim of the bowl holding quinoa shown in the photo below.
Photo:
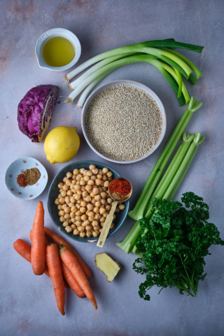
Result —
[{"label": "pale ceramic rim of the bowl holding quinoa", "polygon": [[[100,92],[108,89],[109,87],[112,87],[112,86],[117,86],[117,85],[130,85],[130,86],[134,86],[136,88],[139,88],[139,89],[142,89],[144,90],[145,92],[149,93],[149,95],[152,96],[152,98],[156,101],[159,109],[160,109],[160,112],[161,112],[161,115],[162,115],[162,131],[161,131],[161,135],[160,135],[160,138],[159,140],[157,141],[155,147],[153,149],[151,149],[149,151],[149,153],[143,155],[142,157],[136,159],[136,160],[132,160],[132,161],[117,161],[117,160],[114,160],[114,159],[110,159],[108,158],[107,156],[104,156],[103,154],[101,154],[100,152],[98,152],[94,147],[93,145],[91,144],[91,142],[89,141],[88,139],[88,136],[87,136],[87,133],[86,133],[86,128],[85,128],[85,116],[86,116],[86,112],[88,110],[88,107],[91,103],[91,101],[93,100],[93,98]],[[82,132],[83,132],[83,135],[86,139],[86,142],[88,143],[88,145],[90,146],[90,148],[97,154],[99,155],[101,158],[103,158],[104,160],[107,160],[107,161],[110,161],[110,162],[113,162],[113,163],[116,163],[116,164],[131,164],[131,163],[135,163],[135,162],[139,162],[139,161],[142,161],[144,159],[146,159],[147,157],[149,157],[159,146],[160,144],[162,143],[163,139],[164,139],[164,136],[165,136],[165,133],[166,133],[166,129],[167,129],[167,114],[166,114],[166,111],[165,111],[165,108],[164,108],[164,105],[161,101],[161,99],[159,98],[159,96],[154,92],[152,91],[148,86],[140,83],[140,82],[137,82],[137,81],[134,81],[134,80],[129,80],[129,79],[118,79],[118,80],[113,80],[113,81],[110,81],[110,82],[107,82],[105,84],[102,84],[101,86],[97,87],[89,96],[88,98],[86,99],[84,105],[83,105],[83,108],[82,108],[82,113],[81,113],[81,127],[82,127]]]}]

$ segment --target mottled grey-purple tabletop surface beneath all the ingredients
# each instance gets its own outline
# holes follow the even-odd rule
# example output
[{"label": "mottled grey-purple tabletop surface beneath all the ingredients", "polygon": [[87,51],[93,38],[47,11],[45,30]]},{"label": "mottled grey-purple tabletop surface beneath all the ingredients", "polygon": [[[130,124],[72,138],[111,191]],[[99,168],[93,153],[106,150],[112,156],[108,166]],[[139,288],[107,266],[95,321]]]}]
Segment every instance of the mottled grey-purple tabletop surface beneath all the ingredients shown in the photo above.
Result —
[{"label": "mottled grey-purple tabletop surface beneath all the ingredients", "polygon": [[[29,230],[37,200],[22,201],[13,197],[4,186],[4,173],[9,164],[21,156],[33,156],[47,168],[48,185],[41,195],[45,205],[46,225],[55,228],[48,215],[47,190],[63,164],[50,165],[43,144],[34,144],[18,129],[19,100],[33,86],[56,84],[60,96],[69,92],[60,74],[40,69],[35,56],[37,38],[46,30],[63,27],[80,39],[82,54],[79,64],[100,52],[118,46],[149,39],[174,37],[176,40],[205,46],[202,54],[183,52],[203,72],[203,77],[189,93],[203,102],[187,126],[187,132],[200,131],[205,141],[198,150],[187,175],[176,193],[179,199],[191,190],[204,197],[210,208],[210,221],[215,223],[222,238],[223,178],[224,178],[224,1],[43,1],[2,0],[0,10],[0,87],[1,87],[1,275],[0,325],[2,336],[221,336],[224,334],[224,248],[212,246],[206,257],[207,276],[200,283],[198,297],[180,296],[176,289],[167,288],[158,296],[150,290],[151,301],[138,296],[143,278],[132,271],[133,255],[126,255],[114,245],[122,240],[133,224],[127,219],[122,228],[105,244],[108,252],[123,266],[119,276],[107,283],[94,265],[99,248],[77,243],[76,249],[92,269],[91,285],[98,310],[86,299],[78,299],[67,290],[66,315],[56,308],[51,281],[32,274],[31,265],[22,260],[12,244],[22,238],[29,242]],[[141,163],[115,165],[122,176],[131,181],[133,205],[144,186],[149,172],[169,135],[186,107],[178,101],[167,81],[148,64],[128,65],[103,80],[131,79],[149,86],[159,95],[167,112],[167,133],[158,150]],[[81,147],[75,160],[101,161],[88,148],[81,134],[80,110],[57,104],[50,130],[59,125],[76,126]],[[65,165],[65,164],[64,164]],[[73,243],[73,242],[70,242]]]}]

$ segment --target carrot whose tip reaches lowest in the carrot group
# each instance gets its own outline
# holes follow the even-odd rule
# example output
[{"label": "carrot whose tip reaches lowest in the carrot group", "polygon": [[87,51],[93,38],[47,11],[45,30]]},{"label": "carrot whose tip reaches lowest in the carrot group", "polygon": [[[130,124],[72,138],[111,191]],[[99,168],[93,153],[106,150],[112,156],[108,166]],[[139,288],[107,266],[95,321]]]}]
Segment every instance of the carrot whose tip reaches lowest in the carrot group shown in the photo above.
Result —
[{"label": "carrot whose tip reaches lowest in the carrot group", "polygon": [[65,315],[65,288],[56,243],[49,243],[46,245],[46,261],[55,291],[57,308],[62,315]]}]

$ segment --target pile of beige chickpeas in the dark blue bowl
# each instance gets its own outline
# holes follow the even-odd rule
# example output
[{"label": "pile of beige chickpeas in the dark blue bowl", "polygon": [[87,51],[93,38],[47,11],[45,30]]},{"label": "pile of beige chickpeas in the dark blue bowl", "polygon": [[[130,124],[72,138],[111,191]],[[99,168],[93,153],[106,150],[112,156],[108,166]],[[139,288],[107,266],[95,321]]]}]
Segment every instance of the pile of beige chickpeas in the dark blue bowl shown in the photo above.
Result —
[{"label": "pile of beige chickpeas in the dark blue bowl", "polygon": [[[89,169],[75,168],[68,171],[57,187],[59,194],[55,200],[59,221],[65,230],[75,236],[98,237],[112,206],[108,186],[112,181],[112,172],[108,168],[98,169],[90,165]],[[117,205],[115,212],[123,210],[125,205]],[[113,215],[113,221],[116,215]],[[111,229],[114,223],[111,224]]]}]

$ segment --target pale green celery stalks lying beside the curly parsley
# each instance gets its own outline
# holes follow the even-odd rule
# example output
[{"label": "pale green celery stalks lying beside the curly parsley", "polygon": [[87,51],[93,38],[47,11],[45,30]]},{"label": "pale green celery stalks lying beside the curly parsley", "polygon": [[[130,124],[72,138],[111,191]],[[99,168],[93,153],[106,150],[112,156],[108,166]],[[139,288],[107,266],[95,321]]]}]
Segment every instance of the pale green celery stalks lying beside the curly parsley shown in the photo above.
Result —
[{"label": "pale green celery stalks lying beside the curly parsley", "polygon": [[[116,243],[116,245],[126,253],[133,252],[138,254],[135,242],[142,229],[139,220],[143,217],[150,219],[151,216],[153,216],[152,200],[154,198],[165,199],[167,201],[173,198],[187,172],[198,146],[203,142],[204,136],[199,132],[196,132],[194,135],[184,133],[191,116],[201,107],[201,105],[202,103],[198,103],[195,98],[190,97],[187,110],[182,115],[175,130],[171,134],[167,145],[160,154],[134,208],[129,211],[129,216],[132,219],[135,219],[136,222],[125,239],[121,243]],[[175,148],[182,135],[183,142],[173,156]],[[173,158],[164,172],[171,156],[173,156]]]}]

